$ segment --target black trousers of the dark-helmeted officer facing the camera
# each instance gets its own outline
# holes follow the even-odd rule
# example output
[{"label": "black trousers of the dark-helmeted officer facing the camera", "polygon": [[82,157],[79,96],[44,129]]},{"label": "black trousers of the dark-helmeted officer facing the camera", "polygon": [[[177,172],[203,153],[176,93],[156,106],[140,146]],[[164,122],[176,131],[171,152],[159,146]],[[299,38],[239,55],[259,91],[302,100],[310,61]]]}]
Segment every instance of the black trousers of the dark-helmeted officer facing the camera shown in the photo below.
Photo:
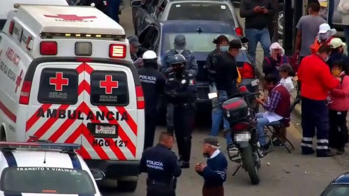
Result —
[{"label": "black trousers of the dark-helmeted officer facing the camera", "polygon": [[191,159],[191,133],[194,129],[195,109],[193,105],[174,105],[173,126],[177,139],[179,158],[184,162]]}]

